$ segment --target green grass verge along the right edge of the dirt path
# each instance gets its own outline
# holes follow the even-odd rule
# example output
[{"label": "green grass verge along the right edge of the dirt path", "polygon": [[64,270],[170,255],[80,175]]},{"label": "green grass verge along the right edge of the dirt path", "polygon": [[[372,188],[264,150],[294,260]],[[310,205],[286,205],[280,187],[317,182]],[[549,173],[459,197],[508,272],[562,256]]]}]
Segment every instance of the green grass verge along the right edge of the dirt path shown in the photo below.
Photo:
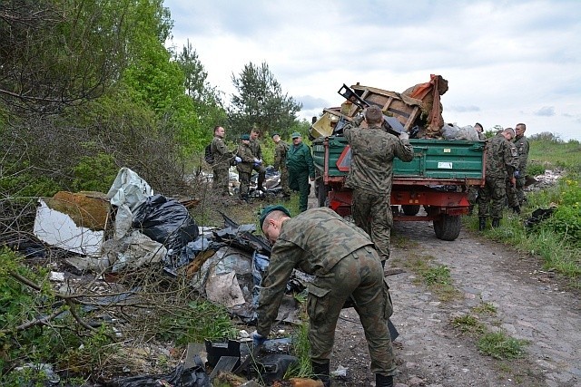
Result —
[{"label": "green grass verge along the right edge of the dirt path", "polygon": [[[566,277],[571,288],[581,288],[581,144],[559,140],[550,133],[530,139],[529,175],[545,169],[564,169],[565,176],[547,189],[527,192],[527,205],[520,217],[505,211],[501,227],[488,228],[482,235],[515,247],[531,256],[541,256],[543,269]],[[524,221],[537,208],[557,208],[551,218],[536,227]],[[465,224],[478,229],[478,216],[464,217]]]}]

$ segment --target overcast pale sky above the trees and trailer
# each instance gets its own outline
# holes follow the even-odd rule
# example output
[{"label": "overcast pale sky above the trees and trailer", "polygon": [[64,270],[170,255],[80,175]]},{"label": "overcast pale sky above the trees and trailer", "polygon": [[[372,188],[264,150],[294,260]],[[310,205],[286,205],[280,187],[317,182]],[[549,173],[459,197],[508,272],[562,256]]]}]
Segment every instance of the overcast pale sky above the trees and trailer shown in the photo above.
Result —
[{"label": "overcast pale sky above the trees and trailer", "polygon": [[448,80],[446,122],[581,140],[581,0],[164,0],[172,42],[190,41],[208,82],[268,63],[300,117],[339,106],[341,85],[403,92]]}]

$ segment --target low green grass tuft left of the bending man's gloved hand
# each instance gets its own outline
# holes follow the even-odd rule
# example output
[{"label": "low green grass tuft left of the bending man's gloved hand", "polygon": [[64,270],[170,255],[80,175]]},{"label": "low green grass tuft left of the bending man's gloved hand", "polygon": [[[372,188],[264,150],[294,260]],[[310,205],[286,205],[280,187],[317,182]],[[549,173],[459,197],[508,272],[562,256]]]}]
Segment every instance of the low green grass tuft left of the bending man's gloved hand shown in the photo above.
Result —
[{"label": "low green grass tuft left of the bending man's gloved hand", "polygon": [[237,334],[228,311],[204,300],[192,301],[184,310],[162,315],[156,330],[158,337],[177,344],[222,340]]}]

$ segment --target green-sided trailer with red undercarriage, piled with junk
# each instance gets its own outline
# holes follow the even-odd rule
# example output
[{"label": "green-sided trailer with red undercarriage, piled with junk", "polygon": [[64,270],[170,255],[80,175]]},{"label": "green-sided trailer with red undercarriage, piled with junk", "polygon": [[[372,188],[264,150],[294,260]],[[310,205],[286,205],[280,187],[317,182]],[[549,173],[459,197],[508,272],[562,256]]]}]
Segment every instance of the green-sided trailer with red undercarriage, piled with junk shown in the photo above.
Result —
[{"label": "green-sided trailer with red undercarriage, piled with junk", "polygon": [[[377,98],[379,89],[373,91],[375,103],[390,112],[389,106],[385,109],[386,104],[393,105],[393,101],[381,100]],[[361,94],[369,97],[369,93]],[[397,97],[389,94],[389,98]],[[398,118],[404,130],[409,131],[409,126],[416,122],[413,116],[419,115],[419,104],[411,104],[409,109],[399,106],[391,116]],[[349,120],[357,108],[351,109],[350,113],[344,107],[325,111]],[[325,120],[329,121],[328,118]],[[313,132],[318,135],[312,140],[312,153],[319,207],[332,208],[343,217],[350,216],[351,191],[344,187],[350,169],[349,143],[341,135],[317,128],[316,123]],[[484,184],[485,142],[436,139],[410,139],[409,142],[414,149],[414,159],[411,162],[395,159],[393,162],[390,198],[393,218],[395,221],[431,220],[436,237],[455,240],[461,229],[460,217],[468,214],[468,187]],[[425,215],[419,215],[421,206]]]}]

